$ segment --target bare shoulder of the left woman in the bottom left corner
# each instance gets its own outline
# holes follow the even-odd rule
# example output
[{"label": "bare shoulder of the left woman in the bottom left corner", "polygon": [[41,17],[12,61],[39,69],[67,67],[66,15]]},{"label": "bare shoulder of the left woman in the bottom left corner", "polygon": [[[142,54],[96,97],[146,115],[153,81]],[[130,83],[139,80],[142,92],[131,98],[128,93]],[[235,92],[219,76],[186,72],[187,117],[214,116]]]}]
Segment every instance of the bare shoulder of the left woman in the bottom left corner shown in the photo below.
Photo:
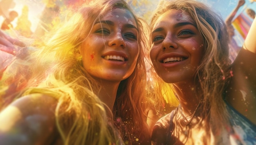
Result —
[{"label": "bare shoulder of the left woman in the bottom left corner", "polygon": [[56,104],[56,99],[44,94],[30,94],[11,103],[0,112],[1,143],[49,143],[55,132]]}]

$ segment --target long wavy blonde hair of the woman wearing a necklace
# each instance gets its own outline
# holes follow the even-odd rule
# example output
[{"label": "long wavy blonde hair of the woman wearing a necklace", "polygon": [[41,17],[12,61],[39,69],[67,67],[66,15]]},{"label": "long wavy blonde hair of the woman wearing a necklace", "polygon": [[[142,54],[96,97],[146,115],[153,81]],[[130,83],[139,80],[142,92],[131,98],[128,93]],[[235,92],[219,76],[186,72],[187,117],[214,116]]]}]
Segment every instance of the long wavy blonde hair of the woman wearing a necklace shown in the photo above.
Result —
[{"label": "long wavy blonde hair of the woman wearing a necklace", "polygon": [[[182,10],[195,21],[197,29],[202,35],[204,56],[195,72],[195,83],[199,82],[198,96],[203,98],[203,119],[211,119],[211,128],[224,127],[228,121],[228,114],[223,101],[223,92],[230,77],[230,60],[228,48],[228,33],[224,21],[214,11],[201,2],[195,0],[171,0],[159,4],[150,23],[150,31],[159,16],[168,10]],[[152,42],[152,41],[150,41]],[[164,82],[156,77],[161,86]],[[170,84],[170,87],[173,87]],[[174,90],[174,89],[173,89]],[[207,123],[206,128],[210,127]]]}]

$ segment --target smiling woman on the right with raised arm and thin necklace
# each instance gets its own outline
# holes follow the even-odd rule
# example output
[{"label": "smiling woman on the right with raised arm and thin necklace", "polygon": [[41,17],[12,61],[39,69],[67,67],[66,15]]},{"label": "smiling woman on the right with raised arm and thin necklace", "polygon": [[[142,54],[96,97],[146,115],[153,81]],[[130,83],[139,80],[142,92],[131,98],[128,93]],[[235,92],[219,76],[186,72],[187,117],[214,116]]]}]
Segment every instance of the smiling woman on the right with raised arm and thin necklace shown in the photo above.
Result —
[{"label": "smiling woman on the right with raised arm and thin necklace", "polygon": [[150,23],[150,58],[162,79],[156,86],[169,83],[180,104],[157,121],[153,144],[256,144],[255,31],[254,20],[231,64],[217,13],[195,0],[159,4]]}]

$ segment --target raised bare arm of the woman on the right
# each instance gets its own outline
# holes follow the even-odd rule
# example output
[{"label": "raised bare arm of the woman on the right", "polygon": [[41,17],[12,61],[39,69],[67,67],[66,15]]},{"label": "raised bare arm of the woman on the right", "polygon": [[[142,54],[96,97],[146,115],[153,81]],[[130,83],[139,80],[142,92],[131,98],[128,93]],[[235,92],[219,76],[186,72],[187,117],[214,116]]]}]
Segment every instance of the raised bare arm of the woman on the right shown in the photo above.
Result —
[{"label": "raised bare arm of the woman on the right", "polygon": [[256,125],[256,20],[252,23],[243,48],[232,64],[232,79],[227,101]]}]

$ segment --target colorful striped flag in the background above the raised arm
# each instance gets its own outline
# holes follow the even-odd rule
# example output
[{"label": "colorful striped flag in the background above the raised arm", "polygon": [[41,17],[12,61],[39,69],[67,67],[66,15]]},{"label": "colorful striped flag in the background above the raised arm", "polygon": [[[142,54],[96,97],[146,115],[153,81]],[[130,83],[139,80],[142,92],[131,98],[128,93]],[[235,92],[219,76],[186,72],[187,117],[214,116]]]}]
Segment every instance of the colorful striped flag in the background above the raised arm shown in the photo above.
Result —
[{"label": "colorful striped flag in the background above the raised arm", "polygon": [[238,17],[232,22],[234,28],[240,33],[240,35],[245,39],[252,25],[252,20],[247,17],[244,13],[240,13]]}]

